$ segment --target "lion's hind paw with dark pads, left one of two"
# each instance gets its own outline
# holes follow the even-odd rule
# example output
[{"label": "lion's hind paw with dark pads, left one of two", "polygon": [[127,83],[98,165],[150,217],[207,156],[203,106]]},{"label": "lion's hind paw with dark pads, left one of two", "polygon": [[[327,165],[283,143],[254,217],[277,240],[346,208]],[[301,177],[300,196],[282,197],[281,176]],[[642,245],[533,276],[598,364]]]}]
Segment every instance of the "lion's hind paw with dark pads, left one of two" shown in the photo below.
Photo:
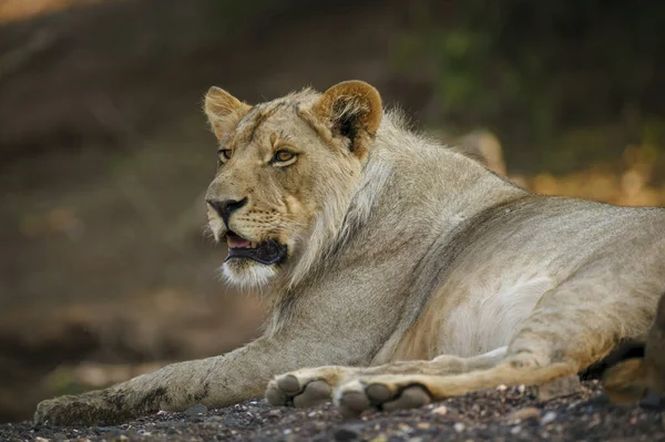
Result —
[{"label": "lion's hind paw with dark pads, left one of two", "polygon": [[332,398],[332,389],[355,369],[320,367],[303,369],[275,377],[266,391],[273,405],[315,407]]}]

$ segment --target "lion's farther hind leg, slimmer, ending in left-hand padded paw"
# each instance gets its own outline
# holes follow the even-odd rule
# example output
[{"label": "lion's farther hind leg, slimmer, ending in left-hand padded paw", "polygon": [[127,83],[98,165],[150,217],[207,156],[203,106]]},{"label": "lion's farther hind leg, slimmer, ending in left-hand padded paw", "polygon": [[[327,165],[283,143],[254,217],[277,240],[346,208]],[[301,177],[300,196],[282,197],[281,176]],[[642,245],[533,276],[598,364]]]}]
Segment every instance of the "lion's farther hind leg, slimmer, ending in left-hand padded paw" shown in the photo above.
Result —
[{"label": "lion's farther hind leg, slimmer, ending in left-hand padded paw", "polygon": [[339,366],[306,368],[275,377],[268,384],[266,399],[273,405],[314,407],[329,401],[332,389],[351,378],[406,373],[464,373],[495,366],[505,351],[507,347],[502,347],[473,358],[440,356],[431,361],[397,361],[370,368]]}]

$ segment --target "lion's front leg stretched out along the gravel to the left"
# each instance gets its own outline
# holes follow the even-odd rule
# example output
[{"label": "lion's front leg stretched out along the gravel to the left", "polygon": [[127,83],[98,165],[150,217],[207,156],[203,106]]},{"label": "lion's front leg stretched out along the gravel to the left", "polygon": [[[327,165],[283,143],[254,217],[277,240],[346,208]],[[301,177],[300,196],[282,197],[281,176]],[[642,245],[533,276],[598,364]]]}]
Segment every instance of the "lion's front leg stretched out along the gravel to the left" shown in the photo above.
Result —
[{"label": "lion's front leg stretched out along the gravel to the left", "polygon": [[105,390],[47,400],[35,423],[113,423],[158,410],[182,411],[196,403],[226,407],[259,398],[278,373],[336,362],[324,350],[307,351],[297,338],[259,338],[227,354],[173,363]]}]

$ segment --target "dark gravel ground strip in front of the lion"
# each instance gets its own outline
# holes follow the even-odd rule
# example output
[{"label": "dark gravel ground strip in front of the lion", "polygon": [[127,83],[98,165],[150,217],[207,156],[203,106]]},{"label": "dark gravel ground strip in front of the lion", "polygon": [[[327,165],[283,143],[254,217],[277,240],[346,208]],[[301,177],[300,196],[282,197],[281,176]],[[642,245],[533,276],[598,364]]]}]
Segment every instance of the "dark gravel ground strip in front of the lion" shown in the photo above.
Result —
[{"label": "dark gravel ground strip in front of the lion", "polygon": [[[264,400],[117,426],[0,425],[0,441],[665,441],[665,411],[607,403],[597,381],[548,400],[535,387],[498,388],[422,409],[344,420],[331,404],[296,410]],[[563,394],[563,393],[560,393]],[[550,394],[551,395],[551,394]],[[42,439],[40,439],[42,438]]]}]

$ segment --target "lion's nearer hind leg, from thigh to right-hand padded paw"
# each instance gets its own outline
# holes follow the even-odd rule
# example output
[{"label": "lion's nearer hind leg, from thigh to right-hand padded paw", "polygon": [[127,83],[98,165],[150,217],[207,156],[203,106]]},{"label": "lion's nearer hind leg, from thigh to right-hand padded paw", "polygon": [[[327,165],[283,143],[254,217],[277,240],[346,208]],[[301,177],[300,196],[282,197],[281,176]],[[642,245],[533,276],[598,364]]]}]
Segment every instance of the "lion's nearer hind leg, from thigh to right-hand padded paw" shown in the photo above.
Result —
[{"label": "lion's nearer hind leg, from thigh to right-hand padded paw", "polygon": [[[646,332],[657,296],[603,297],[586,281],[545,294],[518,328],[503,360],[489,369],[461,374],[412,371],[402,374],[358,376],[339,384],[334,399],[354,415],[366,409],[420,407],[499,384],[542,384],[576,374],[610,353],[622,339]],[[587,289],[582,300],[581,289]],[[651,313],[649,313],[651,312]]]}]

